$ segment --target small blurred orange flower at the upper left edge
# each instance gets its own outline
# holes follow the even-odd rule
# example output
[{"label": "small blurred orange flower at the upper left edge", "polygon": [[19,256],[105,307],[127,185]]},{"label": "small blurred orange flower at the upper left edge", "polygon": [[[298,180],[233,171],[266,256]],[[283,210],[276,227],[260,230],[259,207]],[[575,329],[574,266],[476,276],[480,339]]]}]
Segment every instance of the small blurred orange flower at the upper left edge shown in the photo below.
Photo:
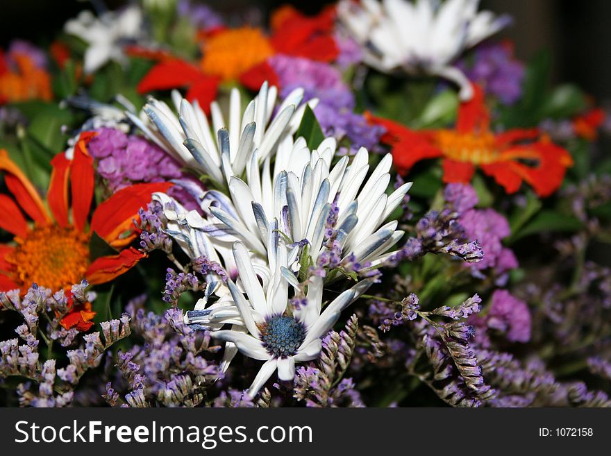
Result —
[{"label": "small blurred orange flower at the upper left edge", "polygon": [[0,50],[0,103],[30,99],[50,100],[51,78],[49,73],[37,67],[30,56],[14,53],[15,68],[6,62]]}]

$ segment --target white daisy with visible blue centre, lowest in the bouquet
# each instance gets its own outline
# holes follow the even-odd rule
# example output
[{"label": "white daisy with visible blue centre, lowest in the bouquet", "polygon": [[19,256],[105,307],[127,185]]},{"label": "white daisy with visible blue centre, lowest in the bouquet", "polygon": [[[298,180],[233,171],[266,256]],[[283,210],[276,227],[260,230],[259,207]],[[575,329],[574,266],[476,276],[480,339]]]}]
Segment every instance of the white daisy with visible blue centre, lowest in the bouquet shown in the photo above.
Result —
[{"label": "white daisy with visible blue centre, lowest in the bouquet", "polygon": [[276,269],[266,292],[253,269],[246,246],[236,242],[233,253],[248,298],[244,298],[242,290],[229,280],[233,303],[225,301],[212,310],[216,321],[234,325],[231,330],[212,332],[212,337],[234,344],[232,346],[248,357],[265,361],[249,388],[251,397],[256,396],[276,369],[280,380],[290,381],[295,375],[296,362],[318,357],[321,337],[372,283],[369,279],[358,282],[322,310],[323,282],[313,277],[308,284],[305,305],[287,312],[289,285],[282,272],[287,266],[287,249],[282,242],[276,242],[276,248]]}]

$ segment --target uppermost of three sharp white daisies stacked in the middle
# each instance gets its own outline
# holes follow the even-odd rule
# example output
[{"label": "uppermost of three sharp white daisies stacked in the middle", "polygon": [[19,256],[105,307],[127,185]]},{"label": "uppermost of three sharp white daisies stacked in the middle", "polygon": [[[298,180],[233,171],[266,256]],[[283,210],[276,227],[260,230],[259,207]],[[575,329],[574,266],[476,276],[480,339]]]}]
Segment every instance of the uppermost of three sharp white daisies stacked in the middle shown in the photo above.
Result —
[{"label": "uppermost of three sharp white daisies stacked in the middle", "polygon": [[[146,117],[129,116],[150,140],[174,158],[223,185],[234,174],[242,174],[255,149],[262,161],[275,153],[283,137],[299,128],[305,104],[297,106],[303,99],[303,89],[285,97],[273,115],[277,94],[276,87],[264,83],[242,112],[240,91],[233,89],[227,119],[217,101],[210,104],[212,125],[197,101],[190,103],[177,91],[172,92],[172,101],[178,116],[166,103],[153,98],[144,105]],[[309,104],[313,107],[315,103]]]}]

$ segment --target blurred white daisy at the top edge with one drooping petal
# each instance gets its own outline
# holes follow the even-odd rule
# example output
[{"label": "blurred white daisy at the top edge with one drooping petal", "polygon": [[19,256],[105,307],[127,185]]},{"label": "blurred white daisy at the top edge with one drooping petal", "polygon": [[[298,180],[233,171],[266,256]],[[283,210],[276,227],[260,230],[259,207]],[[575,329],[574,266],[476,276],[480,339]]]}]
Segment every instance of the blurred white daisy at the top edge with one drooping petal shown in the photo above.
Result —
[{"label": "blurred white daisy at the top edge with one drooping petal", "polygon": [[342,0],[337,15],[361,44],[365,62],[383,72],[432,74],[473,90],[455,58],[505,27],[510,18],[479,11],[479,0]]}]

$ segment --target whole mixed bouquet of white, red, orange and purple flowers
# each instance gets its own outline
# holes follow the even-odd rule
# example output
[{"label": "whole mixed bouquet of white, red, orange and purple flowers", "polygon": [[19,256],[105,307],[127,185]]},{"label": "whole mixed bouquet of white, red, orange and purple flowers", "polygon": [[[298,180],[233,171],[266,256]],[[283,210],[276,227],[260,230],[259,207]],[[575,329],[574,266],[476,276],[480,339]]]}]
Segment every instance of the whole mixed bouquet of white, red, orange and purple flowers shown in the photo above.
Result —
[{"label": "whole mixed bouquet of white, red, orange and purple flowers", "polygon": [[2,405],[611,405],[605,113],[508,17],[83,8],[0,49]]}]

